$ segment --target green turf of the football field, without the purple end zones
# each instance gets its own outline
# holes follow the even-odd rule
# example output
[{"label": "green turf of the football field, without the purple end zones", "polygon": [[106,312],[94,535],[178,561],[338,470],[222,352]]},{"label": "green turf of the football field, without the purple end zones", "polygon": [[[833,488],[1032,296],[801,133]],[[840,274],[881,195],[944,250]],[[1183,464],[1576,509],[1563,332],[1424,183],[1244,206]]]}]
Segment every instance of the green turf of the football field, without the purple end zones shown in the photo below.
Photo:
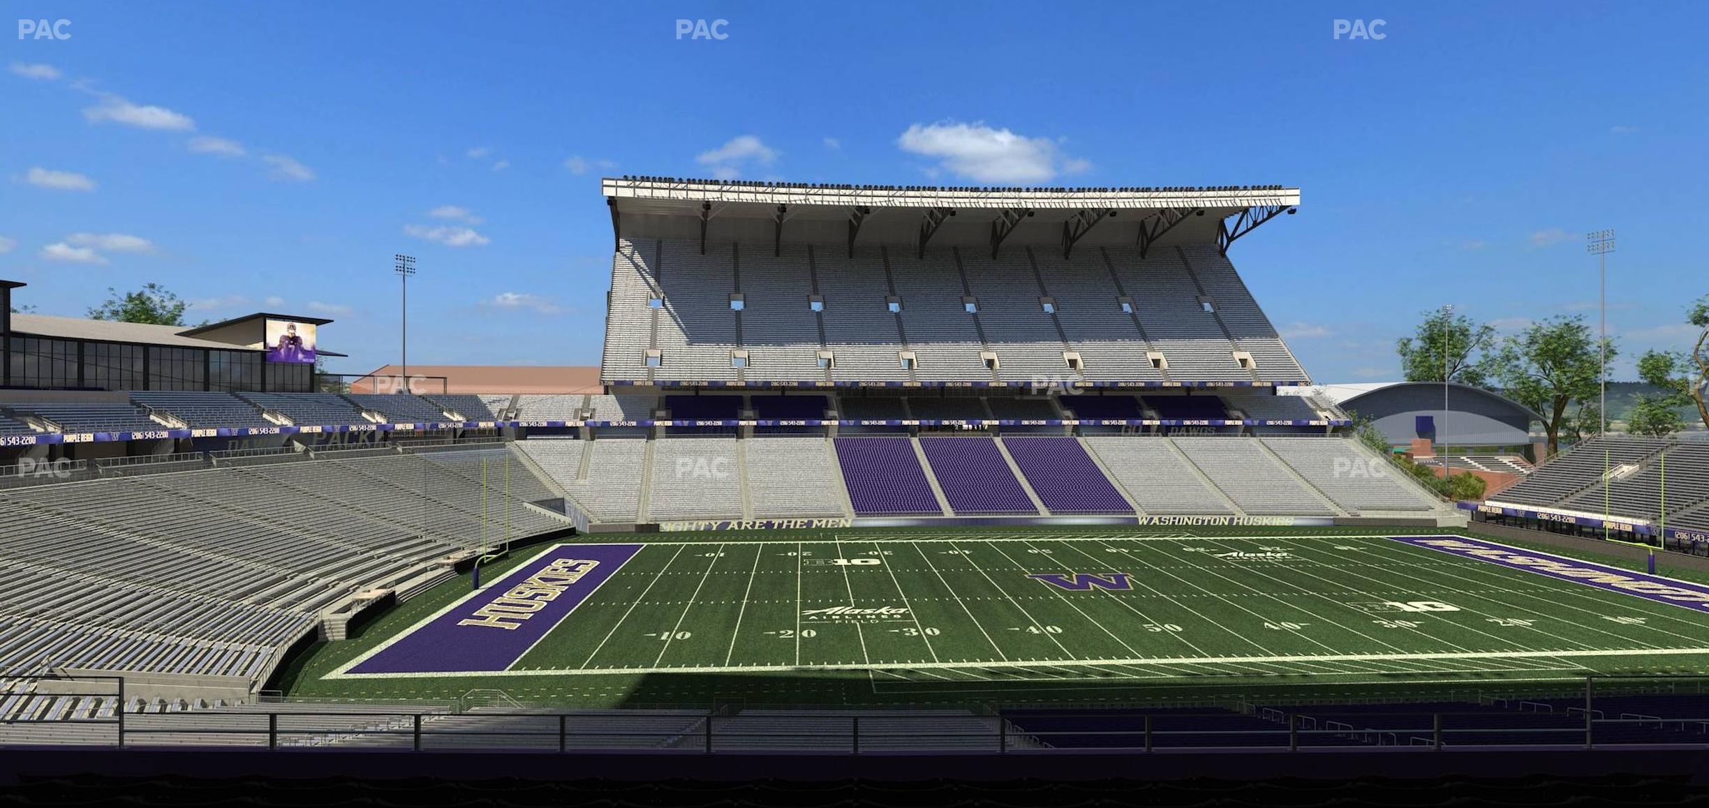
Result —
[{"label": "green turf of the football field, without the purple end zones", "polygon": [[[1109,702],[1280,683],[1702,673],[1709,661],[1704,612],[1389,533],[1271,533],[661,536],[504,670],[349,673],[470,596],[463,579],[323,646],[291,682],[297,695],[490,688],[586,706]],[[566,543],[596,542],[631,540]],[[514,553],[484,581],[550,547]]]}]

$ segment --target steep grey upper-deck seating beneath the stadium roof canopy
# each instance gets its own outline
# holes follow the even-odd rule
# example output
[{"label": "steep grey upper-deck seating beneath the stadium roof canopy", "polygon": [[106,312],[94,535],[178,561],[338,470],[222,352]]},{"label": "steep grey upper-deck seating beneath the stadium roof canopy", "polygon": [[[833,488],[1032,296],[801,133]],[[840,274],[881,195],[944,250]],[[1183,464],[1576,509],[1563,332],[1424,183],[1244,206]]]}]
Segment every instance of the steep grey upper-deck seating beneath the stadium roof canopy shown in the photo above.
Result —
[{"label": "steep grey upper-deck seating beneath the stadium roof canopy", "polygon": [[1215,246],[620,239],[607,381],[1306,381]]}]

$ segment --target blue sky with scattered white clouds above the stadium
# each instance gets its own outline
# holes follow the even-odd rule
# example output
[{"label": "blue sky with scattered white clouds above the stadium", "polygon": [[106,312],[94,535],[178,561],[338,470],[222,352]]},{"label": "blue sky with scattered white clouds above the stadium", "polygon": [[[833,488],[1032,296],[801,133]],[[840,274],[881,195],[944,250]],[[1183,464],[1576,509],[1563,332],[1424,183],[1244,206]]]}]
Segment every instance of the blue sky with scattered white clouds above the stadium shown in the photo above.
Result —
[{"label": "blue sky with scattered white clouds above the stadium", "polygon": [[[1230,255],[1331,383],[1398,378],[1395,338],[1444,302],[1594,319],[1591,229],[1618,231],[1629,355],[1685,347],[1709,292],[1709,3],[7,9],[19,302],[80,316],[159,282],[197,319],[328,316],[344,372],[396,360],[400,251],[412,362],[596,364],[598,178],[624,173],[1299,186],[1301,214]],[[1384,39],[1336,39],[1338,17]]]}]

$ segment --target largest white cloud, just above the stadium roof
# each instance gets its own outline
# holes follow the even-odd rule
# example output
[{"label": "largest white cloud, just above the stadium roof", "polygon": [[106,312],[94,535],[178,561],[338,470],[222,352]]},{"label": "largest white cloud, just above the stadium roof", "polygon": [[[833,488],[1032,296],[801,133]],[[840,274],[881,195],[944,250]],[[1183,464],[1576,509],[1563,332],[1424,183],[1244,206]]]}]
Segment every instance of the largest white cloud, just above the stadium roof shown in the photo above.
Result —
[{"label": "largest white cloud, just above the stadium roof", "polygon": [[904,152],[935,157],[938,167],[976,183],[1044,183],[1090,162],[1061,154],[1060,142],[1022,137],[983,121],[913,125],[896,138]]}]

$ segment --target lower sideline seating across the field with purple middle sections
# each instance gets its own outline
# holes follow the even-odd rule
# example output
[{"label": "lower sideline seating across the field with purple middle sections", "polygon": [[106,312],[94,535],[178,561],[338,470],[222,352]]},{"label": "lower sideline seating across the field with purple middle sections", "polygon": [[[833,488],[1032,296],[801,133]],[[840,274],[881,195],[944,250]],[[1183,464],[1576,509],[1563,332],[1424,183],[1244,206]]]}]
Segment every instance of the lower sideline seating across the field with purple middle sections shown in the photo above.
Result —
[{"label": "lower sideline seating across the field with purple middle sections", "polygon": [[866,516],[1436,516],[1340,437],[733,436],[528,439],[595,523]]}]

